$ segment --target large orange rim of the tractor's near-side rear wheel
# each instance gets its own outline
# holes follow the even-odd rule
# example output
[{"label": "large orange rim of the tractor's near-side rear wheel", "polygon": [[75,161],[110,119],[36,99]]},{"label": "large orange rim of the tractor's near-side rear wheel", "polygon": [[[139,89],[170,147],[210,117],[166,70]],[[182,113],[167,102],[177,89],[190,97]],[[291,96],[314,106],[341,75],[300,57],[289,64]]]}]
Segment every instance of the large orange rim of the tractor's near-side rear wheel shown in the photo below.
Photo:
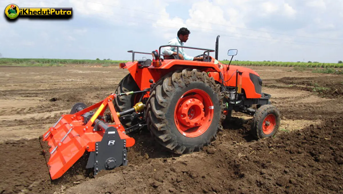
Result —
[{"label": "large orange rim of the tractor's near-side rear wheel", "polygon": [[192,89],[178,100],[174,121],[178,131],[189,138],[202,135],[212,123],[214,107],[208,93]]}]

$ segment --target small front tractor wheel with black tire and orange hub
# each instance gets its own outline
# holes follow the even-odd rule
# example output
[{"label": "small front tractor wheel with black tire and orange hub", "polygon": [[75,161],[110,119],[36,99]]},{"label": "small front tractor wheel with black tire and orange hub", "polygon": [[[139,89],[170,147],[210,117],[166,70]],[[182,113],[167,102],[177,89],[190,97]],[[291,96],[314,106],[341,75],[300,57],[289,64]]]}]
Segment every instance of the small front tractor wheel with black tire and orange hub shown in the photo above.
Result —
[{"label": "small front tractor wheel with black tire and orange hub", "polygon": [[259,107],[253,115],[251,133],[256,139],[273,136],[280,126],[280,112],[273,105]]}]

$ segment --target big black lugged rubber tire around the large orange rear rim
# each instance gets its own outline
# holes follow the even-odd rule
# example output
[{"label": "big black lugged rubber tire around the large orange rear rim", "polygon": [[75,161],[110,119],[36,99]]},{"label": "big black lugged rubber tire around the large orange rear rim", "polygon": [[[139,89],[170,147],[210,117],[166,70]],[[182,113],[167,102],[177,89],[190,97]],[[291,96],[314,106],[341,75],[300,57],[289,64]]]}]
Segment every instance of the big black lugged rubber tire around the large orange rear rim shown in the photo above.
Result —
[{"label": "big black lugged rubber tire around the large orange rear rim", "polygon": [[[214,115],[210,127],[196,138],[182,135],[174,121],[175,106],[181,95],[191,89],[202,89],[209,94],[214,105]],[[200,151],[216,139],[222,130],[224,95],[213,78],[198,69],[184,69],[161,78],[150,93],[146,106],[146,123],[155,140],[169,152],[176,154]]]}]

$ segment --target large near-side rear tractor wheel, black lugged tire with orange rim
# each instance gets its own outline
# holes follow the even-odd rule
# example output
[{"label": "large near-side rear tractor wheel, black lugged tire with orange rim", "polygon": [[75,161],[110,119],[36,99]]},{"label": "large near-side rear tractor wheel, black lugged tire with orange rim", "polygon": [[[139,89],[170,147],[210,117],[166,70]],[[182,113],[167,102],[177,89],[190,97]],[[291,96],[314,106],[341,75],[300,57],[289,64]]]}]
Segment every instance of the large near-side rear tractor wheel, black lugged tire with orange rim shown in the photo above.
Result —
[{"label": "large near-side rear tractor wheel, black lugged tire with orange rim", "polygon": [[200,151],[216,138],[225,119],[223,95],[213,78],[184,69],[162,78],[150,93],[146,123],[155,140],[170,152]]}]

